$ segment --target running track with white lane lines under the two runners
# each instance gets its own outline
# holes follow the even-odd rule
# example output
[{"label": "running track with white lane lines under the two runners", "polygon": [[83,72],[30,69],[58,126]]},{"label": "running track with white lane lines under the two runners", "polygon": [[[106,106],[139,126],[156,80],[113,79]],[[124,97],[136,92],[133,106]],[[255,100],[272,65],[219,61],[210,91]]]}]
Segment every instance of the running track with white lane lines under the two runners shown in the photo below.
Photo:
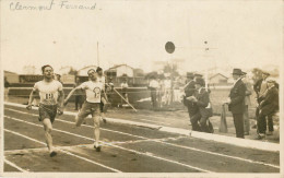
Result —
[{"label": "running track with white lane lines under the two runners", "polygon": [[73,128],[63,115],[54,123],[50,158],[36,110],[4,106],[4,173],[280,173],[280,153],[162,132],[100,123],[102,152],[93,149],[93,122]]}]

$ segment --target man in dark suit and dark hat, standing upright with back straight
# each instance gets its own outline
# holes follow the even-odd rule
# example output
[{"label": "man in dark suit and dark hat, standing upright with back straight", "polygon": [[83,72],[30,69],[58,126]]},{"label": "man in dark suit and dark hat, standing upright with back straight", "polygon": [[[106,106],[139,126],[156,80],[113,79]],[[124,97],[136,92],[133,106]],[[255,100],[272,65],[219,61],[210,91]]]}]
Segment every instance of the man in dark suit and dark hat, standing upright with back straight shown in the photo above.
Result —
[{"label": "man in dark suit and dark hat, standing upright with back straight", "polygon": [[229,92],[229,98],[227,100],[228,110],[232,111],[234,123],[236,128],[237,138],[244,137],[244,111],[245,111],[245,96],[246,96],[246,85],[241,81],[241,70],[233,70],[234,85]]}]

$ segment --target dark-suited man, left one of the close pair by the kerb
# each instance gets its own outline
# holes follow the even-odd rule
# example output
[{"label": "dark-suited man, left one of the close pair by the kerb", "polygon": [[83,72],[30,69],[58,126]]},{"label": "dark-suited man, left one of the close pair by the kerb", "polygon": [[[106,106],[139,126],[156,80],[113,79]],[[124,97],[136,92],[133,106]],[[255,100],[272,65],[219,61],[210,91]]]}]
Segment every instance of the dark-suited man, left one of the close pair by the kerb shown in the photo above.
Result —
[{"label": "dark-suited man, left one of the close pair by the kerb", "polygon": [[[191,121],[192,116],[198,112],[198,106],[193,102],[190,102],[187,99],[187,97],[192,96],[193,93],[196,92],[196,87],[194,87],[196,82],[193,81],[193,79],[194,79],[193,73],[188,72],[187,73],[187,83],[184,86],[185,94],[186,94],[184,97],[184,104],[188,108],[190,121]],[[200,127],[193,126],[192,122],[191,122],[191,126],[192,126],[192,130],[200,131]]]}]

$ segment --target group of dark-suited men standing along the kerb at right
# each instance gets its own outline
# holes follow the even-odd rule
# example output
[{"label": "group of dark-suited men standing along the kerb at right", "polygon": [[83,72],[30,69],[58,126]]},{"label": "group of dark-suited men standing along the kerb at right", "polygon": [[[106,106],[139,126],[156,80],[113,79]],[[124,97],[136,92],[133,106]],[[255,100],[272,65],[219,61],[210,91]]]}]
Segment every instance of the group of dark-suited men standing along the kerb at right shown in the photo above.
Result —
[{"label": "group of dark-suited men standing along the kerb at right", "polygon": [[[249,106],[251,105],[252,86],[247,73],[240,69],[234,69],[232,75],[234,84],[224,104],[228,106],[228,110],[233,115],[236,137],[244,139],[250,132]],[[256,109],[258,137],[256,139],[273,134],[273,115],[279,110],[279,84],[269,76],[270,73],[262,71],[262,78],[253,85],[258,103]],[[209,120],[213,114],[210,91],[205,88],[202,76],[188,72],[184,90],[184,104],[188,108],[192,130],[213,132]]]}]

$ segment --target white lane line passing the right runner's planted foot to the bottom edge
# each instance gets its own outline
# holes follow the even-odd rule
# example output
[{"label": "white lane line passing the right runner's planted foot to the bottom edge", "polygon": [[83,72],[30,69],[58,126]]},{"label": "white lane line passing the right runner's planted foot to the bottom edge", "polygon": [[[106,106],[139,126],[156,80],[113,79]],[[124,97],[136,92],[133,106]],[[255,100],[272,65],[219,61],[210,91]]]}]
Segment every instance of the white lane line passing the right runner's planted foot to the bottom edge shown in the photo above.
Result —
[{"label": "white lane line passing the right runner's planted foot to the bottom edge", "polygon": [[[40,124],[36,124],[36,123],[33,123],[33,122],[28,122],[28,121],[24,121],[24,120],[21,120],[21,119],[12,118],[12,117],[9,117],[9,116],[4,116],[4,117],[9,118],[9,119],[12,119],[12,120],[15,120],[15,121],[24,122],[24,123],[27,123],[27,124],[42,127]],[[58,131],[58,132],[62,132],[62,133],[67,133],[67,134],[71,134],[71,135],[74,135],[74,137],[78,137],[78,138],[83,138],[83,139],[95,141],[92,138],[83,137],[83,135],[71,133],[71,132],[68,132],[68,131],[62,131],[62,130],[55,129],[55,128],[52,130],[54,131]],[[37,141],[37,142],[39,142],[39,141]],[[146,154],[146,153],[138,152],[138,151],[130,150],[130,149],[125,149],[122,146],[114,145],[114,144],[110,144],[110,143],[107,143],[107,142],[103,142],[103,141],[100,141],[100,143],[104,143],[105,145],[109,145],[109,146],[117,147],[117,149],[120,149],[120,150],[125,150],[125,151],[128,151],[128,152],[132,152],[132,153],[135,153],[135,154],[145,155],[145,156],[149,156],[149,157],[154,157],[154,158],[157,158],[157,159],[161,159],[161,161],[165,161],[165,162],[168,162],[168,163],[173,163],[173,164],[177,164],[177,165],[185,166],[185,167],[188,167],[188,168],[192,168],[192,169],[196,169],[196,170],[200,170],[200,171],[204,171],[204,173],[213,173],[213,171],[210,171],[210,170],[206,170],[206,169],[202,169],[202,168],[199,168],[199,167],[196,167],[196,166],[191,166],[191,165],[182,164],[182,163],[179,163],[179,162],[176,162],[176,161],[171,161],[171,159],[163,158],[163,157],[159,157],[159,156],[155,156],[153,154],[150,155],[150,154]]]}]

